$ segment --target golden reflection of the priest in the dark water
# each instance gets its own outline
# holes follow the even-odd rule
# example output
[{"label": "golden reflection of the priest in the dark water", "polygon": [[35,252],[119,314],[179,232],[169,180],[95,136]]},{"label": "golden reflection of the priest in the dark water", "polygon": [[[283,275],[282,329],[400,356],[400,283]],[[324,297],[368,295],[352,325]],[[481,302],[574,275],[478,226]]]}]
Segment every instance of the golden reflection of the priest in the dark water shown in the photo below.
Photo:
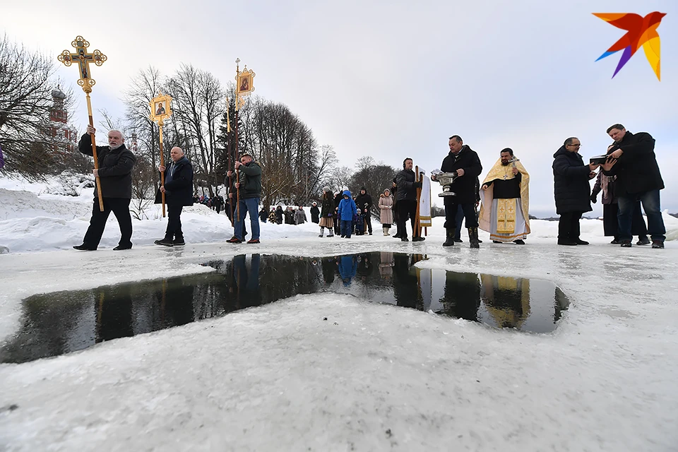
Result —
[{"label": "golden reflection of the priest in the dark water", "polygon": [[520,328],[530,315],[530,281],[480,275],[483,301],[499,328]]}]

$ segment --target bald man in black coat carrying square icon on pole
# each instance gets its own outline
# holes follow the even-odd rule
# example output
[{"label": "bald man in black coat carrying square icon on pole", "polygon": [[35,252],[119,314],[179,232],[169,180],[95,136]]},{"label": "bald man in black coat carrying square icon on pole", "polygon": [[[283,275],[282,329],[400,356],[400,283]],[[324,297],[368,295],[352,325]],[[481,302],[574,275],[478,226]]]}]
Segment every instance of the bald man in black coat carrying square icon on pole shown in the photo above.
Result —
[{"label": "bald man in black coat carrying square icon on pole", "polygon": [[[165,185],[161,185],[155,194],[155,203],[162,202],[165,194],[167,203],[167,230],[165,238],[156,240],[156,245],[182,246],[184,232],[182,232],[182,210],[184,206],[193,206],[193,166],[184,156],[182,148],[174,147],[169,151],[172,162],[169,167],[158,165],[157,169],[165,173]],[[216,199],[216,197],[215,197]]]}]

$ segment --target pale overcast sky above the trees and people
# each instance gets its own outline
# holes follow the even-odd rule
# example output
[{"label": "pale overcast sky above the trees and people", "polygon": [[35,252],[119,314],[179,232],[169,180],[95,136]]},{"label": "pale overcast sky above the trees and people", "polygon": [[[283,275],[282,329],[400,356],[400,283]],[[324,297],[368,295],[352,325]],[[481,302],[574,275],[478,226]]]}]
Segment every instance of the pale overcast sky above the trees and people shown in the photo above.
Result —
[{"label": "pale overcast sky above the trees and people", "polygon": [[[55,61],[76,35],[105,53],[93,69],[93,107],[114,116],[140,69],[170,75],[187,63],[227,83],[239,57],[256,72],[256,93],[287,104],[320,144],[334,146],[340,165],[371,155],[399,167],[412,157],[430,172],[458,134],[480,155],[481,179],[499,150],[513,148],[530,172],[530,213],[552,215],[553,153],[577,136],[588,161],[605,152],[605,129],[620,122],[657,140],[662,208],[678,211],[669,172],[678,165],[674,0],[23,0],[2,10],[10,39]],[[595,59],[624,31],[591,13],[652,11],[667,13],[658,28],[662,81],[642,50],[612,79],[621,52]],[[76,69],[57,74],[78,88]],[[84,100],[77,119],[84,129]]]}]

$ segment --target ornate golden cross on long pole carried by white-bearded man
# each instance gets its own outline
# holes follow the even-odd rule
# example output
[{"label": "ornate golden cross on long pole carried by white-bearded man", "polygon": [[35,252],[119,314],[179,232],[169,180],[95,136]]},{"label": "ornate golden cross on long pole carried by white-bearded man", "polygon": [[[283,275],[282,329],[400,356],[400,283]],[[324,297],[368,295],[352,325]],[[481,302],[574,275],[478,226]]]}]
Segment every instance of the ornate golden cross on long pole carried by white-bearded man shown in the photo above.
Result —
[{"label": "ornate golden cross on long pole carried by white-bearded man", "polygon": [[[94,121],[92,119],[92,102],[90,100],[90,93],[92,92],[92,87],[97,83],[93,78],[90,78],[90,63],[94,63],[97,66],[104,64],[108,58],[105,54],[102,54],[98,49],[93,53],[88,53],[87,48],[90,47],[90,43],[85,40],[82,36],[76,36],[76,39],[71,42],[71,45],[75,47],[76,53],[71,53],[69,50],[64,50],[61,52],[59,61],[65,66],[71,66],[73,61],[78,63],[78,69],[80,70],[80,78],[78,78],[78,85],[83,87],[85,95],[87,95],[87,114],[90,117],[90,126],[94,127]],[[92,156],[94,157],[94,169],[99,169],[99,160],[97,158],[97,143],[95,140],[94,134],[90,135],[92,139]],[[97,183],[97,194],[99,194],[99,208],[104,211],[104,199],[101,194],[101,182],[99,177],[96,177]]]}]

